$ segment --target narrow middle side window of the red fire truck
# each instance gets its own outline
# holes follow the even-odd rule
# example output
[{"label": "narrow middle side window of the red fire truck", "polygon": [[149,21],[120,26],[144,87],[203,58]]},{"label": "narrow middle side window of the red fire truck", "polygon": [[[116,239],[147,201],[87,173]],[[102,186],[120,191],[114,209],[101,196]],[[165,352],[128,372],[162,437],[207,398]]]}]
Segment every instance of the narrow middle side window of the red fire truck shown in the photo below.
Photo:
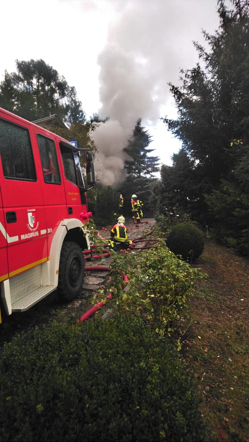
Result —
[{"label": "narrow middle side window of the red fire truck", "polygon": [[61,184],[54,141],[40,133],[37,134],[37,140],[45,183]]}]

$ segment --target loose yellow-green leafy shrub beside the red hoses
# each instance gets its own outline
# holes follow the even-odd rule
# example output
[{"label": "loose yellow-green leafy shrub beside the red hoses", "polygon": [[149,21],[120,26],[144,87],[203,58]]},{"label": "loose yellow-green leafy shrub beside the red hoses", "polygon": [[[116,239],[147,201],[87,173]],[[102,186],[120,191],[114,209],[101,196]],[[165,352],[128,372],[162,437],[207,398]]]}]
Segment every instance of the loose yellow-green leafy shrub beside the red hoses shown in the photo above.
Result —
[{"label": "loose yellow-green leafy shrub beside the red hoses", "polygon": [[[122,272],[128,277],[128,290],[122,280]],[[141,320],[145,320],[156,332],[171,338],[174,334],[177,340],[179,333],[183,332],[180,324],[186,328],[185,320],[194,284],[201,278],[206,279],[207,275],[178,259],[166,247],[165,240],[161,239],[157,240],[155,248],[144,250],[143,253],[113,256],[112,271],[104,291],[112,292],[115,287],[117,296],[113,297],[110,305],[117,312],[131,316],[139,311]],[[99,293],[96,296],[100,301]],[[180,340],[178,346],[180,350]]]}]

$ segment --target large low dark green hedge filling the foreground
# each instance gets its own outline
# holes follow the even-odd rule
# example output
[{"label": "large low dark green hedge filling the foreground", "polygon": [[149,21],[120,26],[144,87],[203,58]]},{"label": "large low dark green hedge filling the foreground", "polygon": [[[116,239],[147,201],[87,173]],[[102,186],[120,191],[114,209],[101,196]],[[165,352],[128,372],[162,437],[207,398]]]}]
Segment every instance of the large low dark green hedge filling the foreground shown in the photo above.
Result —
[{"label": "large low dark green hedge filling the foreground", "polygon": [[192,379],[132,321],[35,328],[0,356],[1,441],[202,441]]}]

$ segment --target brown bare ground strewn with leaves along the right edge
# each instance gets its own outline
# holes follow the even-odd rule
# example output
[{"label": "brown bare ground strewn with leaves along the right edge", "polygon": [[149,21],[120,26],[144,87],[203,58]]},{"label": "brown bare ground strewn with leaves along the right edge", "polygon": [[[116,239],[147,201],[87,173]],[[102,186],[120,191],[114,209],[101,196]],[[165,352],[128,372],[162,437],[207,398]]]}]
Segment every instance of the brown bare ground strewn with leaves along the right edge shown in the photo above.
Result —
[{"label": "brown bare ground strewn with leaves along the right edge", "polygon": [[181,355],[196,377],[211,440],[247,441],[249,261],[206,240],[208,274],[191,299]]}]

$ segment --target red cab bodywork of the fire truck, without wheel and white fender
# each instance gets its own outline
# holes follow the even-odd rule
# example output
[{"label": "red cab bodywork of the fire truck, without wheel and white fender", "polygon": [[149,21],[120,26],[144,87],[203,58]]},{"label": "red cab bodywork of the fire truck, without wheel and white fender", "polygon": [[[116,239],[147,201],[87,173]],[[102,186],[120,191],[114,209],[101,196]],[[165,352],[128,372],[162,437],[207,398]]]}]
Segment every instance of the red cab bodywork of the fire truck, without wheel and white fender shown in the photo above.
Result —
[{"label": "red cab bodywork of the fire truck, without wheel and white fender", "polygon": [[[22,173],[18,175],[18,154],[14,159],[10,158],[11,164],[8,165],[8,152],[2,144],[4,154],[2,158],[0,156],[1,282],[49,260],[53,236],[61,221],[76,218],[80,222],[79,214],[87,211],[87,199],[82,197],[79,191],[77,171],[73,171],[72,166],[73,155],[76,156],[77,153],[72,149],[72,158],[70,157],[68,141],[1,108],[0,123],[4,133],[9,133],[10,138],[13,132],[16,132],[17,140],[19,136],[22,138],[20,156],[25,155],[25,149],[29,149],[30,157],[27,157],[27,163],[30,162],[29,167],[32,169],[31,179],[23,179]],[[4,140],[2,137],[2,143]],[[64,142],[64,147],[61,146],[61,142]],[[6,149],[10,149],[9,143],[11,141],[8,138]],[[52,172],[42,164],[42,149],[45,152],[46,146],[51,150],[49,161],[53,164]],[[14,177],[12,168],[15,161]],[[75,179],[72,178],[76,182],[65,176],[66,167],[69,174],[76,176]],[[8,174],[12,175],[6,177]],[[46,181],[48,176],[51,181]]]}]

